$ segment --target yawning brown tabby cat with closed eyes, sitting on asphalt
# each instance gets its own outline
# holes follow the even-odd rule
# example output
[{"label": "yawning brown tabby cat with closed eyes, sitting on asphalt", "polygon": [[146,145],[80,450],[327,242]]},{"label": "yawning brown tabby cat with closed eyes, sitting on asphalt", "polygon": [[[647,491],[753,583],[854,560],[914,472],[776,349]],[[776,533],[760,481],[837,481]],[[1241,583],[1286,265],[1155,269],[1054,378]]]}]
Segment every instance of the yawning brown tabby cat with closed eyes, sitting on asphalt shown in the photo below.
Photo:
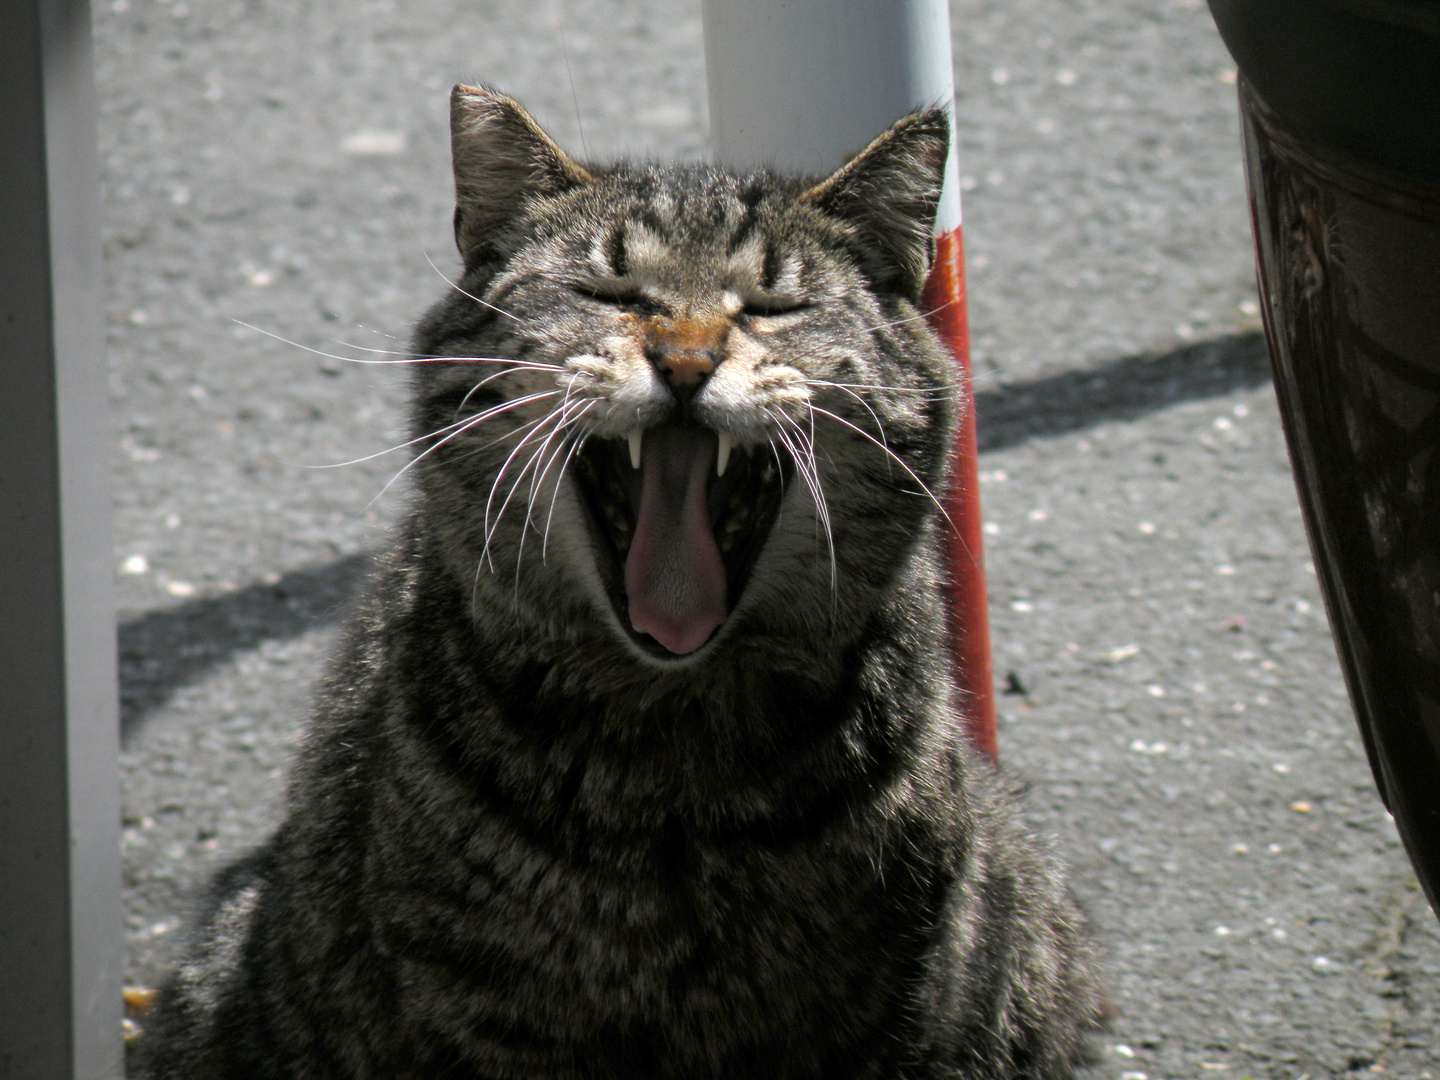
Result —
[{"label": "yawning brown tabby cat with closed eyes, sitting on asphalt", "polygon": [[413,507],[147,1071],[1070,1076],[1093,959],[948,674],[945,114],[812,181],[451,128]]}]

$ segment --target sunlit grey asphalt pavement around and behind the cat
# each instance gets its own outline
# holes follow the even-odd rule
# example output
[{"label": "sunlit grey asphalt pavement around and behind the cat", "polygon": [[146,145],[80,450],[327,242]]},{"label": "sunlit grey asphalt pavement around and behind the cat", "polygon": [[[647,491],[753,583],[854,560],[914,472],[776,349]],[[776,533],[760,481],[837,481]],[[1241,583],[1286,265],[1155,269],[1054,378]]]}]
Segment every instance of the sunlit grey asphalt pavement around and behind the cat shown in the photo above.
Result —
[{"label": "sunlit grey asphalt pavement around and behind the cat", "polygon": [[[1234,66],[1200,0],[952,20],[1001,755],[1106,952],[1090,1076],[1440,1077],[1440,926],[1305,544]],[[403,348],[455,269],[449,85],[507,89],[582,156],[698,157],[704,65],[690,0],[95,22],[127,982],[153,985],[199,883],[278,819],[405,505],[403,455],[370,456],[403,438],[402,379],[337,357]]]}]

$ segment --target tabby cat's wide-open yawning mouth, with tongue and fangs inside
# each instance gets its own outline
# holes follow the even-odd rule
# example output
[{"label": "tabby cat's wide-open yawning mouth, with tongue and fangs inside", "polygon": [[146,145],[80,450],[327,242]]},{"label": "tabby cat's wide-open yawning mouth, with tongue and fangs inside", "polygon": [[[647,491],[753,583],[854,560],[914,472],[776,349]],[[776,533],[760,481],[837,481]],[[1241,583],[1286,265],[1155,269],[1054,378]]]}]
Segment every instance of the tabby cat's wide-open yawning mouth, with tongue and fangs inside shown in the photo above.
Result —
[{"label": "tabby cat's wide-open yawning mouth, with tongue and fangs inside", "polygon": [[769,446],[721,448],[708,428],[590,439],[573,477],[621,624],[657,655],[706,644],[734,611],[793,465]]}]

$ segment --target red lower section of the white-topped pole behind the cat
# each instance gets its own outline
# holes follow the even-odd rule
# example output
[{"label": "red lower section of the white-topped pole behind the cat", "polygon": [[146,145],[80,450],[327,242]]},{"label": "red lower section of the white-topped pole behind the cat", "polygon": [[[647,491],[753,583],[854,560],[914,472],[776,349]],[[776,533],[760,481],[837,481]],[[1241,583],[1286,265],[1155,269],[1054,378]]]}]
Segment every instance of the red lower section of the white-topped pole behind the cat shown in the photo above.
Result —
[{"label": "red lower section of the white-topped pole behind the cat", "polygon": [[935,266],[922,294],[932,328],[949,346],[960,384],[960,422],[950,456],[950,490],[945,534],[949,557],[949,624],[955,683],[963,698],[971,742],[991,759],[995,739],[995,677],[989,651],[989,605],[981,550],[979,458],[975,442],[975,393],[971,386],[971,325],[965,311],[965,245],[960,229],[935,240]]}]

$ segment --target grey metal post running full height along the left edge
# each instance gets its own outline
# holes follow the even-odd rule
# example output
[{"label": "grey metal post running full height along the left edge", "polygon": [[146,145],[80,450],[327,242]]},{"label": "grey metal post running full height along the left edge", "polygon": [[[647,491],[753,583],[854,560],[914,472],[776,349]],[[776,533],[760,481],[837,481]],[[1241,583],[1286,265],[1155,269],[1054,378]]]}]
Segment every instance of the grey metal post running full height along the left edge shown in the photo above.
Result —
[{"label": "grey metal post running full height along the left edge", "polygon": [[0,4],[0,1079],[111,1080],[120,812],[86,0]]}]

